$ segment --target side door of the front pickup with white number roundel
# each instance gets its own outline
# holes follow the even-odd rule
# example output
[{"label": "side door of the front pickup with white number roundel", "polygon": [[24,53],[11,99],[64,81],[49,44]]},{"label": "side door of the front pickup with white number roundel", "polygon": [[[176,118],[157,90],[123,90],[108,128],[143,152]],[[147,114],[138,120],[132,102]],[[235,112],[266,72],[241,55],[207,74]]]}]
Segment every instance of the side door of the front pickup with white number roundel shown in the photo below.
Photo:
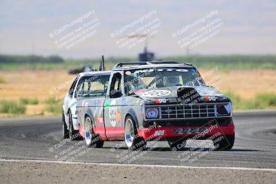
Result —
[{"label": "side door of the front pickup with white number roundel", "polygon": [[104,123],[106,136],[110,140],[124,140],[124,127],[121,119],[121,99],[124,95],[122,72],[113,72],[104,103]]}]

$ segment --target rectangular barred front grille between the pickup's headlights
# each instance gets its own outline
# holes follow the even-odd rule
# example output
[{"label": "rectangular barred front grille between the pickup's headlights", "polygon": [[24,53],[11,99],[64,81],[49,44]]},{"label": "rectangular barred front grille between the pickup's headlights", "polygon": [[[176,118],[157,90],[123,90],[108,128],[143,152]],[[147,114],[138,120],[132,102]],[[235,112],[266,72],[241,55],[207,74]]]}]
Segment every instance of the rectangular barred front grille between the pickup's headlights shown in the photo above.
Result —
[{"label": "rectangular barred front grille between the pickup's headlights", "polygon": [[162,105],[159,112],[161,119],[210,118],[217,116],[217,105]]}]

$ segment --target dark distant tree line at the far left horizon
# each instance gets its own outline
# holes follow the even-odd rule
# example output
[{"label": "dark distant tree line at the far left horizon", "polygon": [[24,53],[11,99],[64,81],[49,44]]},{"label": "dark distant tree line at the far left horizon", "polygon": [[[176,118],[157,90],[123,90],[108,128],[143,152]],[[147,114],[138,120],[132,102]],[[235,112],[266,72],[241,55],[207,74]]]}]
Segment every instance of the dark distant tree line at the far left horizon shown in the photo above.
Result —
[{"label": "dark distant tree line at the far left horizon", "polygon": [[0,63],[63,63],[59,56],[41,57],[37,55],[0,55]]}]

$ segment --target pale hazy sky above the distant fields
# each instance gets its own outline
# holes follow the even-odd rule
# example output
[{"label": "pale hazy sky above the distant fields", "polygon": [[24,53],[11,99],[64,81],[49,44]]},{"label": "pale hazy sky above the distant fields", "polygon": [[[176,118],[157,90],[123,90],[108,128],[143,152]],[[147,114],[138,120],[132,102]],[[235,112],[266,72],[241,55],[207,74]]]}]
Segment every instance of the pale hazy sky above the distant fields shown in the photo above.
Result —
[{"label": "pale hazy sky above the distant fields", "polygon": [[[217,14],[197,22],[183,34],[172,37],[181,28],[195,23],[202,17]],[[149,12],[154,12],[143,22],[136,22]],[[70,28],[50,38],[49,34],[58,32],[66,23],[72,23],[84,14],[90,15],[83,21],[75,22]],[[95,14],[92,14],[94,12]],[[83,23],[95,20],[90,37],[76,43],[72,48],[58,48],[55,41],[75,41],[68,35]],[[193,54],[276,54],[276,1],[0,1],[0,54],[59,54],[63,57],[136,57],[144,48],[139,41],[132,48],[120,48],[118,43],[125,35],[139,32],[150,21],[157,20],[153,37],[148,39],[148,48],[157,56]],[[198,45],[187,48],[179,41],[192,32],[198,32],[214,20],[219,20],[209,39],[199,37]],[[96,25],[97,23],[97,25]],[[125,25],[134,23],[121,34]],[[158,23],[158,24],[157,24]],[[215,26],[214,25],[214,26]],[[146,30],[147,30],[146,29]],[[85,29],[84,29],[85,30]],[[94,32],[93,32],[94,31]],[[79,33],[79,32],[77,32]],[[74,34],[74,35],[77,35]],[[86,32],[87,33],[87,32]],[[154,34],[153,34],[154,33]],[[202,33],[202,32],[201,32]],[[74,36],[73,35],[73,36]],[[84,33],[81,37],[85,35]],[[206,34],[207,35],[207,34]],[[71,35],[72,36],[72,35]],[[79,37],[80,38],[80,37]],[[78,39],[79,39],[78,38]],[[191,39],[191,37],[190,37]],[[59,42],[59,43],[62,43]],[[57,42],[56,42],[57,43]]]}]

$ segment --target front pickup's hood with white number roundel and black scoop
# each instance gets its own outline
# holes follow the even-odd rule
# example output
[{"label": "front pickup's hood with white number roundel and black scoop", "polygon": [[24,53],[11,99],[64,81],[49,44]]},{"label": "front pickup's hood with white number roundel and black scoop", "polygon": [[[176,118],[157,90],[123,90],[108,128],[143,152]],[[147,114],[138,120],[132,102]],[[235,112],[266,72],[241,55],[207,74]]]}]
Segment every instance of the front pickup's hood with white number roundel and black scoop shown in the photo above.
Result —
[{"label": "front pickup's hood with white number roundel and black scoop", "polygon": [[171,102],[217,101],[228,99],[224,94],[208,86],[177,86],[172,88],[155,88],[134,90],[134,94],[144,100],[168,99]]}]

